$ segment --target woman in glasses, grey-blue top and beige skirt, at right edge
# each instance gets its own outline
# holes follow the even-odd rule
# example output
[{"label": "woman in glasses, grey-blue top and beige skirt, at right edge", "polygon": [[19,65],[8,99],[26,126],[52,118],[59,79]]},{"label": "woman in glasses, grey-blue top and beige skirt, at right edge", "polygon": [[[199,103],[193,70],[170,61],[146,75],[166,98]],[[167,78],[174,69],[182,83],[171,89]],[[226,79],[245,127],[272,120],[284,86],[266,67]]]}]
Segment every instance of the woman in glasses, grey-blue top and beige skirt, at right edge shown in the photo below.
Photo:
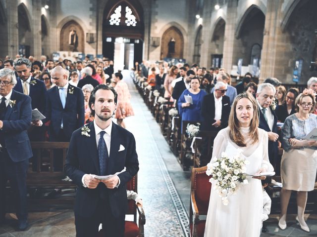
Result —
[{"label": "woman in glasses, grey-blue top and beige skirt, at right edge", "polygon": [[295,101],[297,113],[285,119],[282,127],[281,214],[279,228],[286,228],[287,206],[292,190],[297,191],[297,217],[302,230],[310,232],[304,220],[307,192],[314,190],[317,170],[317,141],[303,139],[317,127],[315,95],[305,89]]}]

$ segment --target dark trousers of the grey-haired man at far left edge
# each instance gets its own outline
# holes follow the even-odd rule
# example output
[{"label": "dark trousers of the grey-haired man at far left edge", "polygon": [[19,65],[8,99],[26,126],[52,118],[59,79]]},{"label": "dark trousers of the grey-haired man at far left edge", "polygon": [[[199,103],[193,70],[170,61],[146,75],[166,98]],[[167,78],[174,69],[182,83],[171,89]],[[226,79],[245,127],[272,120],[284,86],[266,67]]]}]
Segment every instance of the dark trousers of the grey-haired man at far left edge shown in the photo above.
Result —
[{"label": "dark trousers of the grey-haired man at far left edge", "polygon": [[26,173],[29,166],[29,160],[13,162],[6,150],[0,152],[0,219],[5,216],[5,185],[9,180],[16,216],[19,220],[27,219],[27,198],[26,198]]}]

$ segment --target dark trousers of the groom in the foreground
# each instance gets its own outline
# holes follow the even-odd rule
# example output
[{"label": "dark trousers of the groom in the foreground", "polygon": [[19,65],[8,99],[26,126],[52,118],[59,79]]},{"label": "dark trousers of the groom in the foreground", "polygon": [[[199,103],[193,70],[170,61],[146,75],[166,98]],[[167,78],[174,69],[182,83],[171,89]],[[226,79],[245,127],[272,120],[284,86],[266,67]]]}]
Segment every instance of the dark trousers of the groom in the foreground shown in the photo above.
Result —
[{"label": "dark trousers of the groom in the foreground", "polygon": [[95,213],[91,217],[81,217],[75,212],[76,237],[97,237],[98,227],[103,224],[103,237],[124,237],[125,213],[113,217],[109,201],[100,199]]}]

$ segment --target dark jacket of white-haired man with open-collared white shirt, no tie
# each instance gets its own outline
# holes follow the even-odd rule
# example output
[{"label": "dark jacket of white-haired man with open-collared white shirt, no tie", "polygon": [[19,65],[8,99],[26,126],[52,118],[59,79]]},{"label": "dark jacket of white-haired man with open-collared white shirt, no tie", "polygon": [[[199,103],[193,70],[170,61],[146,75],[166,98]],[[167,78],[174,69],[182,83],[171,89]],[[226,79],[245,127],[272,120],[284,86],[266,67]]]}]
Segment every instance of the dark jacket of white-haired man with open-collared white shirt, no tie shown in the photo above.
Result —
[{"label": "dark jacket of white-haired man with open-collared white shirt, no tie", "polygon": [[221,125],[219,128],[215,128],[211,124],[215,122],[214,113],[214,96],[213,93],[205,95],[202,103],[202,117],[204,118],[202,123],[202,130],[211,131],[211,130],[220,130],[228,126],[229,114],[230,114],[230,98],[226,95],[222,96],[222,109],[221,109]]}]

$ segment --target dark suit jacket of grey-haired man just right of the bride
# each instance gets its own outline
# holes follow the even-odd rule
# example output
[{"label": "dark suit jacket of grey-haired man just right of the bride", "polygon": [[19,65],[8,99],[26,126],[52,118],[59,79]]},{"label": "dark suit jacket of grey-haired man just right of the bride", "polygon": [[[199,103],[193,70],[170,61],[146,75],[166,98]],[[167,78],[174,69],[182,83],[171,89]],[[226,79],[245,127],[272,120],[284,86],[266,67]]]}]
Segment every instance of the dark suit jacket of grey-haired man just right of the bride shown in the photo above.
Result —
[{"label": "dark suit jacket of grey-haired man just right of the bride", "polygon": [[[269,129],[269,126],[264,118],[264,115],[262,113],[262,111],[259,110],[259,127],[264,129],[267,132],[274,132],[277,133],[277,116],[274,112],[274,110],[272,110],[271,107],[269,107],[273,117],[274,117],[274,123],[273,123],[273,127],[272,130]],[[275,164],[277,161],[277,157],[278,157],[278,143],[276,142],[272,142],[272,141],[268,141],[268,158],[270,163],[273,165],[274,169],[275,169]]]}]

